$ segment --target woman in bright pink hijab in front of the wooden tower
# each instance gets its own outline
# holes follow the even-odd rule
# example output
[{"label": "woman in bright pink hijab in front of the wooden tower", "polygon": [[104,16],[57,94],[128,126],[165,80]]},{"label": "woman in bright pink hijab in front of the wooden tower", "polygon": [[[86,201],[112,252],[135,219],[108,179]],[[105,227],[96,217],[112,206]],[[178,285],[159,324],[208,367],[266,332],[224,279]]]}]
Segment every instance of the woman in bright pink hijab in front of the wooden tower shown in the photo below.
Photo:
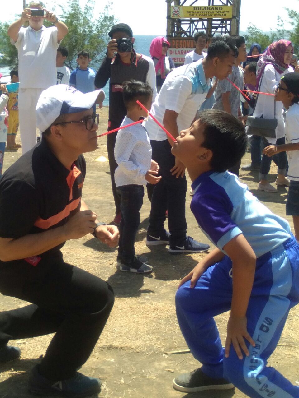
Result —
[{"label": "woman in bright pink hijab in front of the wooden tower", "polygon": [[169,42],[163,36],[155,37],[149,47],[149,53],[155,64],[157,92],[160,91],[167,74],[175,68],[173,60],[166,55],[169,47]]}]

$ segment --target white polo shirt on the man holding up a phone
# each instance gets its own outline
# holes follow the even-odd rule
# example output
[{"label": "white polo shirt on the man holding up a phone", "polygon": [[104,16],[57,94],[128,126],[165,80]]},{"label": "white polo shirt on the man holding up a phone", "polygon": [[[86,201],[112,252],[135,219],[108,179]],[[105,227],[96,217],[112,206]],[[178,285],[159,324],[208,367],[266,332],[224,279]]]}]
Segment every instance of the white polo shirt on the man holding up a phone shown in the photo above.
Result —
[{"label": "white polo shirt on the man holding up a phone", "polygon": [[48,88],[56,84],[57,28],[42,26],[35,31],[21,27],[18,40],[19,88]]}]

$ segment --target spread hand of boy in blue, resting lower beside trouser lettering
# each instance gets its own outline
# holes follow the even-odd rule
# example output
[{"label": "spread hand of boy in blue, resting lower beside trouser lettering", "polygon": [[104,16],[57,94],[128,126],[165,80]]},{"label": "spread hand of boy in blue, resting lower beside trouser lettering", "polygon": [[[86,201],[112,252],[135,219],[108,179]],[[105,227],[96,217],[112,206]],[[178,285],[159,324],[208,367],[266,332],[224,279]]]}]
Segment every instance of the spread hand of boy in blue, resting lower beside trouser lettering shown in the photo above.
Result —
[{"label": "spread hand of boy in blue, resting lower beside trouser lettering", "polygon": [[248,357],[249,351],[244,341],[244,338],[250,342],[251,345],[255,346],[256,343],[247,332],[247,318],[246,316],[237,317],[230,314],[230,318],[227,324],[227,335],[225,341],[225,357],[228,358],[230,352],[230,345],[234,346],[236,354],[239,359],[243,359],[242,351]]}]

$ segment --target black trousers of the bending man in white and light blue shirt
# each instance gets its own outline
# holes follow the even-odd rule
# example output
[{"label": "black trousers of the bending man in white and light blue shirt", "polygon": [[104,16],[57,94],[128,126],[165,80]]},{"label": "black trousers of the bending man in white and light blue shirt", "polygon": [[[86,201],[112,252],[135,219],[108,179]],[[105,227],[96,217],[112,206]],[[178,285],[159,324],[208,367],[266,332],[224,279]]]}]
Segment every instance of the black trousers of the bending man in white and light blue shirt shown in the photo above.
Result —
[{"label": "black trousers of the bending man in white and light blue shirt", "polygon": [[159,236],[164,228],[167,210],[170,243],[181,244],[185,241],[187,233],[187,179],[185,176],[176,178],[171,175],[170,169],[175,165],[175,157],[170,152],[171,145],[168,140],[151,140],[151,149],[151,157],[159,164],[159,175],[162,176],[162,179],[153,186],[148,233]]}]

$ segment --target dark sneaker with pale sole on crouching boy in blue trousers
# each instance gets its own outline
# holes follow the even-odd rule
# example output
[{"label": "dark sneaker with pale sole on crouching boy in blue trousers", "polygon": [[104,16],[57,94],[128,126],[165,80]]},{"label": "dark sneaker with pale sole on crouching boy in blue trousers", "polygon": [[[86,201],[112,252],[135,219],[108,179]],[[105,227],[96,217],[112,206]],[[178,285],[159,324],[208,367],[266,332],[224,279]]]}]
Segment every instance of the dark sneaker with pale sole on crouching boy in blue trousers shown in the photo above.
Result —
[{"label": "dark sneaker with pale sole on crouching boy in blue trousers", "polygon": [[205,390],[230,390],[234,384],[225,378],[212,378],[202,372],[201,368],[190,373],[183,373],[173,379],[173,388],[182,392],[199,392]]}]

